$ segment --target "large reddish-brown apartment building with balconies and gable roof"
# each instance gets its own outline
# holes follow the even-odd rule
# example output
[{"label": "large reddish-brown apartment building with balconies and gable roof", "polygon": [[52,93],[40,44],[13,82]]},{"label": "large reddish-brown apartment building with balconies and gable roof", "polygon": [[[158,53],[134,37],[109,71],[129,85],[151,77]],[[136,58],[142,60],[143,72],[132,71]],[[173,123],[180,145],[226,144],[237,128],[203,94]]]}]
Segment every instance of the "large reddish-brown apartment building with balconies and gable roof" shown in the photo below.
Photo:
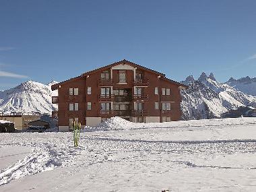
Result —
[{"label": "large reddish-brown apartment building with balconies and gable roof", "polygon": [[59,92],[52,99],[58,104],[53,117],[59,131],[71,130],[72,121],[94,126],[116,116],[138,123],[179,121],[184,88],[163,73],[123,60],[53,85]]}]

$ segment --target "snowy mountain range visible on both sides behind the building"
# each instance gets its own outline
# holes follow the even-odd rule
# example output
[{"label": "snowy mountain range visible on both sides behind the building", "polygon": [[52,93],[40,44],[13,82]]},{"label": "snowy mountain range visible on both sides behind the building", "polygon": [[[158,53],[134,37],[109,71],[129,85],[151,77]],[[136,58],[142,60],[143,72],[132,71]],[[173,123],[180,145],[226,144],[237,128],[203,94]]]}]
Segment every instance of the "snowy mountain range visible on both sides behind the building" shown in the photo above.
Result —
[{"label": "snowy mountain range visible on both sides behind the building", "polygon": [[[4,114],[49,114],[57,109],[51,97],[57,96],[51,86],[58,82],[41,84],[24,82],[15,88],[0,91],[0,113]],[[230,78],[221,83],[213,73],[201,73],[198,79],[189,75],[181,82],[189,86],[181,90],[183,119],[221,118],[224,113],[241,106],[256,108],[256,78]]]}]

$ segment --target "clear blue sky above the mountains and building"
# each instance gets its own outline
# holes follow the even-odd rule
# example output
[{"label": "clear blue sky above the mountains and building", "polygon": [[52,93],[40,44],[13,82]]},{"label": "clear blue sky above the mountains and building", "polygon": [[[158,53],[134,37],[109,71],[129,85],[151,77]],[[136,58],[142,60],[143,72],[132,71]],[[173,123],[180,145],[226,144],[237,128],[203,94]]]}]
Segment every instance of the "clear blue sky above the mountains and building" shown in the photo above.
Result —
[{"label": "clear blue sky above the mountains and building", "polygon": [[256,1],[0,1],[0,90],[127,59],[181,81],[256,76]]}]

